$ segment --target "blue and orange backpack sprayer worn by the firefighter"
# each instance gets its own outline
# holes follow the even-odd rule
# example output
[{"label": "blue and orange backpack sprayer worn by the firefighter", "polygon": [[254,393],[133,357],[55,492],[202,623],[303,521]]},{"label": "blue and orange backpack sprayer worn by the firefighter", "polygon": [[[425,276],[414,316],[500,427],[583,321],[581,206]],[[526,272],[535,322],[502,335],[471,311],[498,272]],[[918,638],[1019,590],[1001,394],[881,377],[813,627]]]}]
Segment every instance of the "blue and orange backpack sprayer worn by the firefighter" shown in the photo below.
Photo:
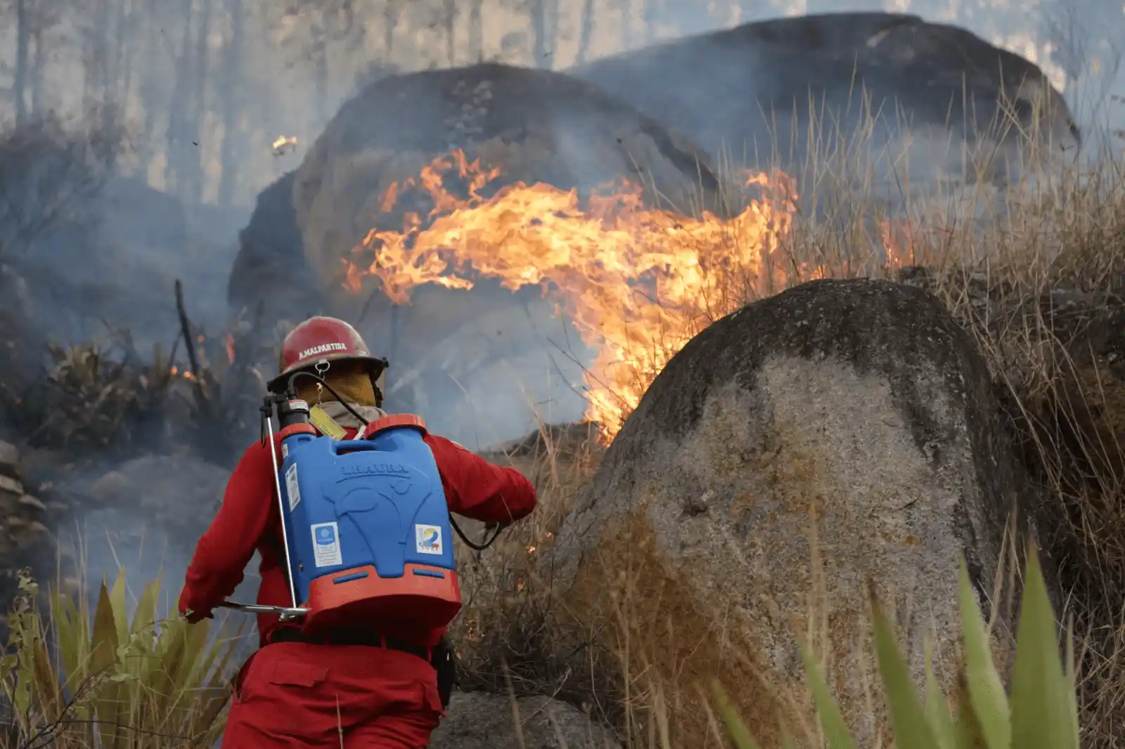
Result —
[{"label": "blue and orange backpack sprayer worn by the firefighter", "polygon": [[[316,380],[321,386],[326,388],[341,405],[348,409],[348,412],[354,416],[360,424],[361,433],[364,439],[359,441],[348,441],[348,442],[333,442],[331,437],[317,437],[317,431],[313,427],[309,421],[309,408],[308,404],[297,397],[297,390],[295,382],[299,377],[308,377]],[[466,538],[465,533],[458,527],[457,523],[449,515],[448,506],[446,505],[444,494],[441,490],[441,481],[436,472],[436,464],[433,462],[432,453],[429,451],[429,446],[422,443],[422,436],[425,433],[425,428],[422,425],[421,419],[413,416],[392,416],[385,417],[375,425],[372,434],[367,434],[370,423],[368,419],[363,418],[350,404],[348,404],[340,394],[336,392],[331,385],[328,385],[322,377],[314,374],[307,370],[294,372],[289,377],[287,387],[284,394],[270,394],[268,395],[261,407],[262,413],[262,440],[269,440],[270,444],[270,459],[272,461],[273,468],[273,487],[274,494],[277,496],[278,511],[281,518],[281,542],[285,548],[285,562],[286,562],[286,577],[289,584],[289,606],[270,606],[263,604],[245,604],[234,601],[226,601],[219,604],[220,607],[233,608],[246,613],[255,614],[277,614],[282,622],[300,622],[302,626],[307,625],[313,615],[310,615],[312,610],[317,610],[312,612],[317,619],[323,619],[328,621],[332,619],[332,610],[340,610],[342,613],[345,608],[351,608],[356,611],[362,608],[363,613],[379,615],[388,611],[397,611],[402,608],[402,605],[387,606],[382,604],[394,604],[397,602],[404,602],[405,598],[415,597],[414,605],[426,613],[420,614],[425,617],[426,624],[432,625],[443,625],[443,620],[448,617],[451,619],[452,613],[460,608],[460,593],[457,586],[457,575],[453,565],[452,551],[447,549],[441,541],[441,525],[448,522],[449,527],[451,527],[457,535],[471,549],[477,551],[483,551],[490,547],[500,533],[503,531],[503,525],[497,525],[495,533],[490,539],[484,541],[483,543],[474,543]],[[278,419],[278,430],[273,430],[273,418],[274,414]],[[382,431],[379,431],[379,427]],[[402,427],[414,427],[405,428]],[[378,432],[378,433],[376,433]],[[281,453],[282,459],[287,460],[289,466],[286,471],[286,488],[282,489],[281,485],[281,470],[278,464],[277,450],[273,446],[276,434],[281,435]],[[410,436],[413,435],[413,436]],[[307,452],[309,443],[317,440],[327,440],[328,442],[322,443],[318,450],[313,450],[312,453]],[[379,444],[376,444],[376,443]],[[331,445],[331,446],[327,446]],[[418,448],[423,451],[418,452]],[[402,455],[403,464],[397,464],[393,470],[405,471],[400,475],[392,477],[393,481],[399,484],[398,488],[394,491],[395,494],[406,493],[407,499],[411,496],[411,491],[417,494],[421,490],[423,494],[420,502],[423,503],[422,506],[412,509],[414,515],[411,515],[415,523],[421,521],[429,521],[428,523],[421,523],[414,525],[414,534],[416,535],[416,552],[423,556],[411,554],[407,556],[410,559],[405,560],[407,563],[404,566],[403,560],[397,560],[397,569],[395,568],[395,560],[389,559],[386,554],[377,553],[374,558],[363,557],[352,569],[343,569],[340,567],[348,567],[343,563],[341,557],[340,547],[340,524],[344,522],[345,518],[351,517],[349,513],[358,516],[362,516],[364,520],[357,521],[363,524],[363,527],[359,527],[358,532],[362,533],[364,529],[386,526],[388,523],[380,522],[387,520],[389,516],[380,515],[375,517],[372,512],[375,511],[375,503],[370,499],[360,499],[357,503],[349,505],[349,495],[346,493],[340,493],[336,490],[333,494],[335,485],[340,485],[343,481],[356,478],[357,473],[363,475],[381,475],[382,469],[388,464],[394,466],[394,463],[384,463],[381,466],[371,464],[370,461],[366,463],[358,463],[352,466],[350,471],[345,470],[345,476],[338,477],[336,479],[328,479],[330,494],[333,497],[328,499],[332,504],[334,512],[330,515],[322,516],[321,520],[325,517],[331,517],[333,522],[327,523],[315,523],[312,525],[313,530],[313,544],[310,547],[302,545],[300,539],[294,539],[298,544],[298,550],[303,553],[298,553],[298,565],[294,567],[292,559],[292,547],[290,545],[290,531],[287,527],[290,522],[294,522],[292,511],[302,502],[302,488],[306,493],[309,493],[310,485],[306,480],[298,481],[297,475],[297,459],[288,460],[296,451],[302,452],[302,455],[308,455],[307,458],[302,458],[303,461],[309,461],[315,470],[322,468],[325,470],[341,470],[339,468],[339,454],[346,454],[349,452],[367,452],[371,454],[372,450],[387,450],[389,452],[379,453],[387,455],[387,459],[395,459]],[[328,452],[325,453],[325,450]],[[423,457],[423,453],[425,457]],[[417,461],[422,461],[421,463]],[[429,471],[418,471],[417,467],[428,462]],[[412,478],[413,477],[413,478]],[[421,477],[421,481],[415,479]],[[386,478],[382,479],[384,481]],[[405,485],[403,484],[405,481]],[[436,484],[436,493],[426,489],[429,485]],[[417,485],[417,489],[414,487]],[[381,485],[380,485],[381,486]],[[405,488],[404,488],[405,487]],[[436,494],[438,496],[431,496]],[[288,504],[286,498],[288,497]],[[317,497],[312,497],[306,499],[306,507],[308,502],[315,502]],[[435,504],[440,500],[440,507]],[[336,505],[340,505],[338,507]],[[362,505],[362,506],[359,506]],[[307,515],[310,512],[307,508],[302,511]],[[439,513],[441,517],[439,517]],[[323,515],[323,513],[322,513]],[[370,516],[370,517],[368,517]],[[397,514],[394,515],[397,521]],[[372,522],[375,521],[375,522]],[[353,523],[354,525],[354,523]],[[294,531],[296,531],[294,526]],[[357,531],[350,530],[349,533],[356,533]],[[485,533],[487,534],[488,527],[486,526]],[[403,539],[400,538],[389,538],[385,539],[379,536],[378,539],[364,538],[367,545],[372,545],[374,541],[392,541],[392,545],[402,545]],[[349,539],[351,541],[351,539]],[[354,544],[350,544],[350,548]],[[411,545],[407,542],[407,547]],[[307,553],[305,553],[307,552]],[[335,557],[331,558],[331,553]],[[324,554],[328,553],[327,557]],[[402,557],[402,554],[399,554]],[[354,554],[349,554],[350,559],[356,559]],[[432,562],[431,562],[432,560]],[[328,569],[324,575],[318,577],[312,577],[313,570],[306,570],[306,563],[314,563],[316,568],[327,567]],[[434,567],[433,565],[436,565]],[[389,569],[386,572],[385,569]],[[332,578],[335,574],[343,572],[343,575],[335,577],[331,580],[336,585],[331,585],[325,578]],[[411,575],[405,575],[405,572],[411,572]],[[295,578],[302,578],[302,597],[297,594],[297,583]],[[435,579],[435,578],[441,578]],[[351,583],[351,586],[340,585],[341,583]],[[428,588],[429,594],[421,594],[418,589]],[[343,592],[343,593],[342,593]],[[309,599],[305,601],[303,604],[303,598],[308,596]],[[349,598],[351,596],[351,598]],[[377,598],[384,598],[382,604],[375,605],[371,604],[372,601]],[[367,606],[363,608],[363,606]],[[432,621],[430,621],[432,620]]]}]

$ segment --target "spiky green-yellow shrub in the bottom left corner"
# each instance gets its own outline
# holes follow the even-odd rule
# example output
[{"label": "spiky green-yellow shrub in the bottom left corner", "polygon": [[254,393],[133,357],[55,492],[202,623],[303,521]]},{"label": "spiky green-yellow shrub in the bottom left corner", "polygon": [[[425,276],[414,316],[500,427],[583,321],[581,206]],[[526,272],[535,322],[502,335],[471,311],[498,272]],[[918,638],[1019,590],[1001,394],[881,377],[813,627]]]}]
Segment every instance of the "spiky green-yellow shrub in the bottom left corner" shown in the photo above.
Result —
[{"label": "spiky green-yellow shrub in the bottom left corner", "polygon": [[11,720],[8,746],[124,748],[210,746],[223,730],[234,638],[208,622],[159,620],[160,581],[145,586],[129,621],[125,576],[102,580],[94,611],[84,595],[20,579],[9,617],[0,686]]}]

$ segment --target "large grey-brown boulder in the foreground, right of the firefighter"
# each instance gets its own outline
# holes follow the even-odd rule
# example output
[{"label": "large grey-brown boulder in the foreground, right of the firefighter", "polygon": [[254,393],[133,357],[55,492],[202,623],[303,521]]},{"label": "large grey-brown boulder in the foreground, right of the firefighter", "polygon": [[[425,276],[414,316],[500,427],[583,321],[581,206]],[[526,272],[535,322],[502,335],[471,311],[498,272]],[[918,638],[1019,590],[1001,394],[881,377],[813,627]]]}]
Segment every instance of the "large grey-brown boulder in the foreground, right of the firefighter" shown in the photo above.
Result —
[{"label": "large grey-brown boulder in the foreground, right of the firefighter", "polygon": [[[572,613],[628,622],[633,668],[647,658],[668,700],[717,676],[770,743],[804,633],[871,738],[867,584],[897,613],[915,676],[929,633],[948,685],[958,556],[989,611],[1011,513],[1034,529],[1030,496],[986,363],[940,303],[819,280],[728,315],[672,359],[550,561]],[[700,711],[681,714],[686,737],[705,734]]]}]

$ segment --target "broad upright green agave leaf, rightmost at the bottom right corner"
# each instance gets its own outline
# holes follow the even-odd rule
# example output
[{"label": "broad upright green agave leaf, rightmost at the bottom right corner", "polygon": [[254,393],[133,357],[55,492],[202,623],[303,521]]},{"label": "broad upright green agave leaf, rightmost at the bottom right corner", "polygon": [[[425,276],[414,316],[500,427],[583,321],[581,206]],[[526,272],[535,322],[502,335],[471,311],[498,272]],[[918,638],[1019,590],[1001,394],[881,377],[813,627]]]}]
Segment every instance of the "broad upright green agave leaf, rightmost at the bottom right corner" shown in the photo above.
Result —
[{"label": "broad upright green agave leaf, rightmost at the bottom right corner", "polygon": [[1054,612],[1034,548],[1016,630],[1011,675],[1011,748],[1078,749],[1078,707],[1059,656]]}]

